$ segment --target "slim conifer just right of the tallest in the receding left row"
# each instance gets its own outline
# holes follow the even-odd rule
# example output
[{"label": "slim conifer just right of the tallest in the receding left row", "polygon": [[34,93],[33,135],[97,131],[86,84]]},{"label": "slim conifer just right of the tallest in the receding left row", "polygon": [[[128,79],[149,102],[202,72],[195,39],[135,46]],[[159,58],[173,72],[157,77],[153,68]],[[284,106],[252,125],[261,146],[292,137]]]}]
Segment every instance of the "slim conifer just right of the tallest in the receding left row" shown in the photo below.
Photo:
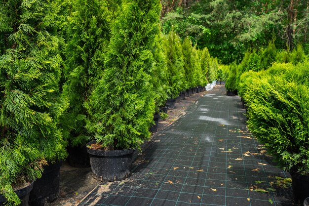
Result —
[{"label": "slim conifer just right of the tallest in the receding left row", "polygon": [[189,38],[184,39],[184,42],[182,43],[182,52],[183,52],[183,58],[184,58],[184,80],[185,80],[185,88],[189,89],[192,88],[195,85],[194,80],[194,57],[193,57],[193,46],[192,42],[189,40]]}]

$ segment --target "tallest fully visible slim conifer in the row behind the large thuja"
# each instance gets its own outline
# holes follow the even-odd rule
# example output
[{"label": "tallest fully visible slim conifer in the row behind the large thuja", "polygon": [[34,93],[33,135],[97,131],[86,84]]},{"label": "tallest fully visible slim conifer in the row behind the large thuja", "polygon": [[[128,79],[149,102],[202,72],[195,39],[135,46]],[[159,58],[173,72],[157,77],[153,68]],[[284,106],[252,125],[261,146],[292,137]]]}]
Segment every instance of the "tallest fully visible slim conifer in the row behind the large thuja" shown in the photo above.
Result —
[{"label": "tallest fully visible slim conifer in the row behind the large thuja", "polygon": [[169,98],[176,98],[179,92],[186,89],[184,81],[184,57],[182,53],[181,40],[178,35],[171,31],[164,40],[167,58],[167,78]]}]

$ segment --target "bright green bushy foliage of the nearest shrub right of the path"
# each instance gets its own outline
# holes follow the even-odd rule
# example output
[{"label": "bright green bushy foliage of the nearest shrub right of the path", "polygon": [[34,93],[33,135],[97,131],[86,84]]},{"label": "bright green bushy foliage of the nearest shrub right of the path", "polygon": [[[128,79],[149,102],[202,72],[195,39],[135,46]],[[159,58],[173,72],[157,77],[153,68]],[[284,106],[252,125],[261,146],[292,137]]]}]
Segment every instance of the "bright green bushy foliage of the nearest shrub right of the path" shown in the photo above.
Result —
[{"label": "bright green bushy foliage of the nearest shrub right of the path", "polygon": [[309,62],[244,73],[248,127],[278,165],[309,174]]}]

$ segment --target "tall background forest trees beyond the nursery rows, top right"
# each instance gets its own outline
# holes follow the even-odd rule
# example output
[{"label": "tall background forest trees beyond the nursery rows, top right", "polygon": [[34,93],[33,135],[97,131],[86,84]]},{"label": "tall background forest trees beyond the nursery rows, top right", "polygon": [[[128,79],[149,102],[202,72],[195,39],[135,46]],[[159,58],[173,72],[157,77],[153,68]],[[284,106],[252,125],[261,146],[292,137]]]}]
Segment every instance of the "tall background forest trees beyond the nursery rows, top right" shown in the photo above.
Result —
[{"label": "tall background forest trees beyond the nursery rows, top right", "polygon": [[309,51],[308,0],[162,0],[162,32],[174,30],[224,64],[275,39],[278,49]]}]

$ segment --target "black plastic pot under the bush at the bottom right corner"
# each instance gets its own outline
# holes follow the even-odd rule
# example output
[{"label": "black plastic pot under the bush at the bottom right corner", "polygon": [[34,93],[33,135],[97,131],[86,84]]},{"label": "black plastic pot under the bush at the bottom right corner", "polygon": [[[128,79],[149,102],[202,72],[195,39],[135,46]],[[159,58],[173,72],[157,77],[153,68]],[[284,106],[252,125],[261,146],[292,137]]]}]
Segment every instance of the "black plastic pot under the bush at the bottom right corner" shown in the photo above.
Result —
[{"label": "black plastic pot under the bush at the bottom right corner", "polygon": [[298,204],[303,204],[305,199],[309,197],[309,176],[292,171],[290,174],[294,201]]}]

